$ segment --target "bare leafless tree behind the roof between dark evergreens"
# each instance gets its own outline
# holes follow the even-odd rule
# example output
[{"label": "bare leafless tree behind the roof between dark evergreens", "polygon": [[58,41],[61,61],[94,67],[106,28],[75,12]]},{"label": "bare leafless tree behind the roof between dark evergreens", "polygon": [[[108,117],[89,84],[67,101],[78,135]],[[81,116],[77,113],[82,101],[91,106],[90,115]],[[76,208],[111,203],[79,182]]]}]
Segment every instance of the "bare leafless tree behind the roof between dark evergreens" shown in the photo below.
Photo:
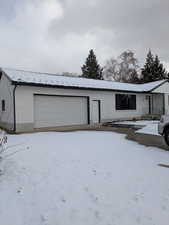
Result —
[{"label": "bare leafless tree behind the roof between dark evergreens", "polygon": [[111,58],[104,67],[104,79],[127,83],[139,83],[138,60],[130,50],[124,51],[117,59]]}]

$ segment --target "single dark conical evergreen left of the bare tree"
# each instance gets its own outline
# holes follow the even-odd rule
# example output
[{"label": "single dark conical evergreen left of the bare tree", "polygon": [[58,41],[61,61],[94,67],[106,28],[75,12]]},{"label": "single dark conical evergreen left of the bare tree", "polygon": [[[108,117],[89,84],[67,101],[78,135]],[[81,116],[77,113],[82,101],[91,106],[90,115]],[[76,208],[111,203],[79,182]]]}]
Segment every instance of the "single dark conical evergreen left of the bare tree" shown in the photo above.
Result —
[{"label": "single dark conical evergreen left of the bare tree", "polygon": [[82,77],[102,80],[102,72],[103,69],[98,64],[94,51],[91,49],[85,64],[82,66]]}]

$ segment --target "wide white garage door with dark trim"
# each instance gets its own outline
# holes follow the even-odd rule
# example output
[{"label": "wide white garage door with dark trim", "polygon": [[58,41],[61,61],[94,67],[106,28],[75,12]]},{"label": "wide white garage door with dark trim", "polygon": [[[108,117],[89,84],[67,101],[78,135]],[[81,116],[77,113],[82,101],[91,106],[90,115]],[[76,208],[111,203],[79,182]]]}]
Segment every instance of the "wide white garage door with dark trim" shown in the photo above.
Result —
[{"label": "wide white garage door with dark trim", "polygon": [[86,97],[34,96],[34,127],[88,123]]}]

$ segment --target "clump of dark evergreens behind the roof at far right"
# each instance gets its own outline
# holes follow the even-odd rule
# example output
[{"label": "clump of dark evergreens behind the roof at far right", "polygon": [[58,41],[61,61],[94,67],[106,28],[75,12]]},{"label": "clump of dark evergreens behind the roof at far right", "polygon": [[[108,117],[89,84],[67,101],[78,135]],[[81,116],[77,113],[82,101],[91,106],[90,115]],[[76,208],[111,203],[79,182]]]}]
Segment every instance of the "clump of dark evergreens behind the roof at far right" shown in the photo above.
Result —
[{"label": "clump of dark evergreens behind the roof at far right", "polygon": [[155,57],[152,55],[149,50],[146,58],[146,63],[144,68],[142,69],[142,82],[147,83],[151,81],[157,81],[166,79],[168,77],[168,73],[166,72],[162,63],[158,56]]}]

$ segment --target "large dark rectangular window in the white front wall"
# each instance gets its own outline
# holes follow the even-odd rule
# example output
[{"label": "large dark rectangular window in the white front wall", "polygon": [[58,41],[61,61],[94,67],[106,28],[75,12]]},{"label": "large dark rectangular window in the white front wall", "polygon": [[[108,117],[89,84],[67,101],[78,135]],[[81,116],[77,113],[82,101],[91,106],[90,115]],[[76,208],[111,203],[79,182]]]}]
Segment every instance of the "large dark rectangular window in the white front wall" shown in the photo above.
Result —
[{"label": "large dark rectangular window in the white front wall", "polygon": [[136,95],[116,94],[116,110],[136,110]]}]

